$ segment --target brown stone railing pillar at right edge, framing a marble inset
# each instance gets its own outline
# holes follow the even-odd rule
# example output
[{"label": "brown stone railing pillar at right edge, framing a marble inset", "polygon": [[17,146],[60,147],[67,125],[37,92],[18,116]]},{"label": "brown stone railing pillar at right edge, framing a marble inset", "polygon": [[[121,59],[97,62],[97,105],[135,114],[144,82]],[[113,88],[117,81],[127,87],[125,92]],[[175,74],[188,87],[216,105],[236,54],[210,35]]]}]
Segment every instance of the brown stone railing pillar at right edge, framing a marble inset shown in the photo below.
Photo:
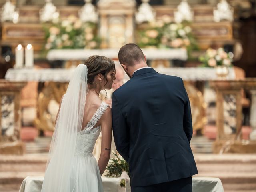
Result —
[{"label": "brown stone railing pillar at right edge, framing a marble inset", "polygon": [[[214,153],[255,153],[256,152],[256,78],[244,78],[242,80],[214,80],[210,81],[217,93],[217,139],[213,143]],[[241,139],[242,134],[242,92],[241,89],[252,93],[250,124],[253,128],[250,141]],[[224,96],[236,97],[236,126],[235,132],[227,134],[224,131]],[[228,99],[229,100],[229,99]],[[232,113],[234,113],[232,106]]]}]

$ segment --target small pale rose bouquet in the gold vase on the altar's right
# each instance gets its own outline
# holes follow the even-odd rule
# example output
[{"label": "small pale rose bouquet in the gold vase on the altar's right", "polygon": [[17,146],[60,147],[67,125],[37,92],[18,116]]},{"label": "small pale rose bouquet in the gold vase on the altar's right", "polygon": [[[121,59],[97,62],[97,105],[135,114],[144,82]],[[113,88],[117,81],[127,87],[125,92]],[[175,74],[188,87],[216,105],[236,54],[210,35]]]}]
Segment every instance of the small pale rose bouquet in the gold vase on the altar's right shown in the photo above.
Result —
[{"label": "small pale rose bouquet in the gold vase on the altar's right", "polygon": [[212,49],[208,48],[203,56],[199,57],[204,67],[215,67],[215,66],[231,66],[233,54],[227,53],[223,48]]}]

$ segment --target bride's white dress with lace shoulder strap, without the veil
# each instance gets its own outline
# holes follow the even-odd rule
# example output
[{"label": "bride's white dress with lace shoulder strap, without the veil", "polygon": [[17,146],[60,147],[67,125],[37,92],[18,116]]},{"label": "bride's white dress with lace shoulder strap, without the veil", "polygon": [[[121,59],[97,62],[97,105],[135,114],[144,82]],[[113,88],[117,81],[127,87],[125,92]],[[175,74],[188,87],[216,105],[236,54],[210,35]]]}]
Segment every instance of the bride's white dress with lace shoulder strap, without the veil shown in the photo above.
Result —
[{"label": "bride's white dress with lace shoulder strap, without the veil", "polygon": [[[65,100],[65,95],[62,103]],[[98,163],[92,152],[95,142],[100,135],[101,126],[94,127],[101,116],[104,114],[108,104],[102,102],[96,110],[86,127],[79,132],[74,157],[72,158],[72,166],[70,172],[70,192],[103,192],[102,180]],[[51,169],[51,162],[48,168]],[[64,168],[63,168],[64,169]],[[46,170],[47,174],[48,169]],[[44,188],[44,186],[43,186]],[[42,188],[42,191],[45,189]]]}]

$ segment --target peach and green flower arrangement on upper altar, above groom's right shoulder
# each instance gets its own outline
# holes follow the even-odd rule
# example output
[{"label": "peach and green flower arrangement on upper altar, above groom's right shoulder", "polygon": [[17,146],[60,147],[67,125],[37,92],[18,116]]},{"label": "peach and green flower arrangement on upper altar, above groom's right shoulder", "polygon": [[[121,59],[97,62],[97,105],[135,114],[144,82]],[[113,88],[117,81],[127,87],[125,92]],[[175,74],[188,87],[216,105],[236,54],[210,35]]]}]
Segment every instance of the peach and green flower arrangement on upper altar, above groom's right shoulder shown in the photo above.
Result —
[{"label": "peach and green flower arrangement on upper altar, above groom's right shoulder", "polygon": [[142,48],[186,48],[190,52],[197,49],[196,39],[191,31],[188,23],[158,21],[138,30],[137,43]]}]

